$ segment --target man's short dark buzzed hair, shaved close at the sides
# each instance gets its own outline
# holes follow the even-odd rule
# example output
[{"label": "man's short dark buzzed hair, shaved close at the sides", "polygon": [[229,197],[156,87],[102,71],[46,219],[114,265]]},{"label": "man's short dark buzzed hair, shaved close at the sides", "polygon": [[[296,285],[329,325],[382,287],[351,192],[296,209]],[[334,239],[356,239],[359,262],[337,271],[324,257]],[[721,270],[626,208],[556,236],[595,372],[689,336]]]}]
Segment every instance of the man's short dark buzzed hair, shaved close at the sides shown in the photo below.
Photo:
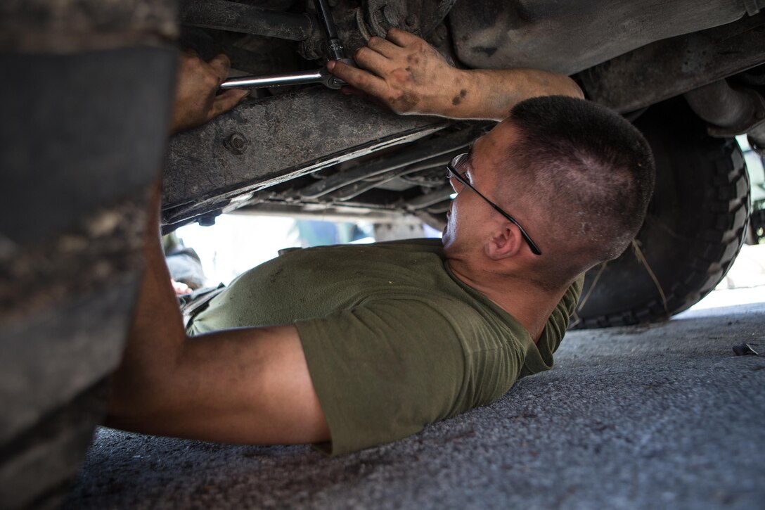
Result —
[{"label": "man's short dark buzzed hair, shaved close at the sides", "polygon": [[522,101],[510,122],[519,138],[507,161],[523,202],[544,208],[538,242],[558,259],[553,280],[618,257],[640,230],[653,193],[653,156],[640,131],[604,106],[567,96]]}]

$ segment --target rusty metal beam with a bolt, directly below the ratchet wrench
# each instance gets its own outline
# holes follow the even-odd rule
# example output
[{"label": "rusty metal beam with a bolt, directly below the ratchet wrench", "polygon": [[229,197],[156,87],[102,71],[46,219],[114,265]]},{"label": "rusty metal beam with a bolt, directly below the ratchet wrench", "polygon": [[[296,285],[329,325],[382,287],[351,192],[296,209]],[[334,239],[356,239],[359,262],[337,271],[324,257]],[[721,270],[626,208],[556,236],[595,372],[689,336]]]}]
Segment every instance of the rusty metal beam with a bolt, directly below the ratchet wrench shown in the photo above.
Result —
[{"label": "rusty metal beam with a bolt, directly below the ratchet wrench", "polygon": [[177,224],[233,208],[254,191],[422,138],[448,124],[434,117],[397,116],[321,87],[246,101],[171,140],[163,222]]}]

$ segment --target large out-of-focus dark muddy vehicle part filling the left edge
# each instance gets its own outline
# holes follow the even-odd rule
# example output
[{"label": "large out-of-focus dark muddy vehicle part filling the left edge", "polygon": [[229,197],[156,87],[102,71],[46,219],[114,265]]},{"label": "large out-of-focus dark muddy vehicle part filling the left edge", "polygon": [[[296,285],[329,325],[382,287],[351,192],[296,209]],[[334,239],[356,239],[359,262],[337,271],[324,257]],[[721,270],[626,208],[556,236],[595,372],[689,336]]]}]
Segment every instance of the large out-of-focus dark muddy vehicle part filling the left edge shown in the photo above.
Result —
[{"label": "large out-of-focus dark muddy vehicle part filling the left edge", "polygon": [[[99,30],[109,15],[132,26],[132,15],[155,14],[86,3],[65,7],[92,14]],[[129,34],[122,47],[113,47],[118,36],[99,47],[74,21],[77,37],[67,41],[95,47],[56,47],[43,28],[65,9],[13,6],[18,23],[8,26],[19,32],[0,44],[19,46],[0,47],[0,69],[24,79],[0,80],[0,95],[13,98],[0,121],[0,508],[55,508],[103,419],[106,380],[122,356],[176,56],[127,29],[116,32]],[[41,30],[30,29],[35,22]],[[34,51],[17,51],[28,41]]]}]

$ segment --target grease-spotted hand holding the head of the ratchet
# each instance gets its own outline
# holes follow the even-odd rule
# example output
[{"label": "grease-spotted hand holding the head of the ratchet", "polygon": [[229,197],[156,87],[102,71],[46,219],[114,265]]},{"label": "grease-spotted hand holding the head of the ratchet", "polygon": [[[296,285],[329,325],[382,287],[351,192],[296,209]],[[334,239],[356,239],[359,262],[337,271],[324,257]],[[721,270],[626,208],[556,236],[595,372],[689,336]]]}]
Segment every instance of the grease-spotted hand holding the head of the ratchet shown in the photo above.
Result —
[{"label": "grease-spotted hand holding the head of the ratchet", "polygon": [[[391,28],[386,39],[369,38],[353,55],[359,68],[330,61],[327,69],[347,81],[343,92],[369,95],[396,113],[442,113],[444,103],[459,101],[460,71],[430,44]],[[452,97],[454,96],[454,97]]]}]

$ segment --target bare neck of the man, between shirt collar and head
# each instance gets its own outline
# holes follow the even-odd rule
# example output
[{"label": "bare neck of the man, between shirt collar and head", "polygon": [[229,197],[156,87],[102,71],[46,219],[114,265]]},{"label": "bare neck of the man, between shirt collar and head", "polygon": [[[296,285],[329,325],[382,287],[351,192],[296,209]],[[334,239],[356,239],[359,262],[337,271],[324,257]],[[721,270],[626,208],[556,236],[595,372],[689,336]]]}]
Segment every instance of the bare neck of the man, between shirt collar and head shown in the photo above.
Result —
[{"label": "bare neck of the man, between shirt collar and head", "polygon": [[565,286],[561,289],[546,290],[524,276],[473,270],[451,260],[449,267],[461,282],[476,289],[513,315],[526,328],[535,343],[539,341],[550,314],[568,288]]}]

